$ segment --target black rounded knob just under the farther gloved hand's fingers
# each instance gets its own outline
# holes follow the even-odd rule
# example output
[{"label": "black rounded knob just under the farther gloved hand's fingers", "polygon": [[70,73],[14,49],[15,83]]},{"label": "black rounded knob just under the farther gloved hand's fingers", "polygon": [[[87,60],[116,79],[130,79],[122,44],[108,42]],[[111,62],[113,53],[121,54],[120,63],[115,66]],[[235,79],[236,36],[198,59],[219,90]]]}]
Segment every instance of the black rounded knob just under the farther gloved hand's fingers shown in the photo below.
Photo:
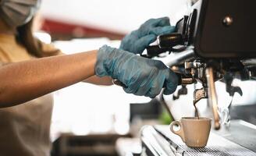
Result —
[{"label": "black rounded knob just under the farther gloved hand's fingers", "polygon": [[183,44],[182,34],[172,33],[158,36],[158,45],[160,48],[172,48],[178,44]]}]

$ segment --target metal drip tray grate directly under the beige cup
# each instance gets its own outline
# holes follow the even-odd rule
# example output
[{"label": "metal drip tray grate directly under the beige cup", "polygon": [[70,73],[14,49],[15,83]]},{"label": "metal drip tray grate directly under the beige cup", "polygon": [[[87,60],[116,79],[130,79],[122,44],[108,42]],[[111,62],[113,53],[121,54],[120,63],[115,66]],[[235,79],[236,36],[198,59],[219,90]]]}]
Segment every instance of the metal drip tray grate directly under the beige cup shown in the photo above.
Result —
[{"label": "metal drip tray grate directly under the beige cup", "polygon": [[215,133],[210,134],[206,147],[190,148],[182,142],[180,137],[171,133],[168,126],[155,126],[155,130],[169,142],[172,152],[176,155],[256,156],[253,151],[226,140],[224,137],[220,137]]}]

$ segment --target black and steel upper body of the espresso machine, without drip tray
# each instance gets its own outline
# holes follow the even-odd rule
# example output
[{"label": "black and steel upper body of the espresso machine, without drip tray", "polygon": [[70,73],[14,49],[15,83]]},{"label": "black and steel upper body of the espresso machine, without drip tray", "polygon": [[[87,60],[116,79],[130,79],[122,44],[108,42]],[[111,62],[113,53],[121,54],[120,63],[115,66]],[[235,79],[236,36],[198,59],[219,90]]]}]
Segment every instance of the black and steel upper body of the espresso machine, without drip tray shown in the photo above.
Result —
[{"label": "black and steel upper body of the espresso machine, without drip tray", "polygon": [[232,85],[233,79],[255,77],[256,20],[250,18],[256,15],[254,5],[254,0],[198,0],[190,14],[176,23],[176,33],[159,36],[158,45],[148,47],[148,57],[162,51],[172,53],[165,64],[180,76],[181,85],[202,84],[194,90],[194,104],[208,98],[215,129],[229,122],[226,117],[221,119],[221,114],[229,115],[229,108],[218,107],[215,81],[226,83],[226,91],[233,97],[243,95],[240,87]]}]

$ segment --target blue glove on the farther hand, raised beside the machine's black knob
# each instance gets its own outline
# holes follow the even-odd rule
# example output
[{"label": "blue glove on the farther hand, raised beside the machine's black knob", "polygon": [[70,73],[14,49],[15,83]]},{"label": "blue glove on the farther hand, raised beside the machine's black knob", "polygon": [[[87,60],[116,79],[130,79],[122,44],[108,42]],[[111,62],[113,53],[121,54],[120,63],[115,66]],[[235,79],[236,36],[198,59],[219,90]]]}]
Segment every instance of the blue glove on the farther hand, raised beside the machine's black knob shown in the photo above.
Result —
[{"label": "blue glove on the farther hand, raised beside the machine's black knob", "polygon": [[174,31],[175,27],[170,26],[168,17],[150,19],[142,24],[138,30],[126,35],[119,48],[133,54],[141,54],[149,44],[156,40],[158,35],[170,34]]}]

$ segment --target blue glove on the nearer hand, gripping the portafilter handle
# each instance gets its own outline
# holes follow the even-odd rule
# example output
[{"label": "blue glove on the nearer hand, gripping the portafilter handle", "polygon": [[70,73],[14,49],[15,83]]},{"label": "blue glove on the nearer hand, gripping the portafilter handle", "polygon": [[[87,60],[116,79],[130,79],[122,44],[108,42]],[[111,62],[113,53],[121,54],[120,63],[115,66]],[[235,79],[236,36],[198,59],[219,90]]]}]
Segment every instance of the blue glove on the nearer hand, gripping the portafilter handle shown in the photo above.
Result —
[{"label": "blue glove on the nearer hand, gripping the portafilter handle", "polygon": [[178,78],[161,61],[143,58],[122,49],[104,45],[98,50],[95,65],[97,76],[112,76],[126,87],[126,93],[155,97],[165,87],[164,94],[172,94]]}]

